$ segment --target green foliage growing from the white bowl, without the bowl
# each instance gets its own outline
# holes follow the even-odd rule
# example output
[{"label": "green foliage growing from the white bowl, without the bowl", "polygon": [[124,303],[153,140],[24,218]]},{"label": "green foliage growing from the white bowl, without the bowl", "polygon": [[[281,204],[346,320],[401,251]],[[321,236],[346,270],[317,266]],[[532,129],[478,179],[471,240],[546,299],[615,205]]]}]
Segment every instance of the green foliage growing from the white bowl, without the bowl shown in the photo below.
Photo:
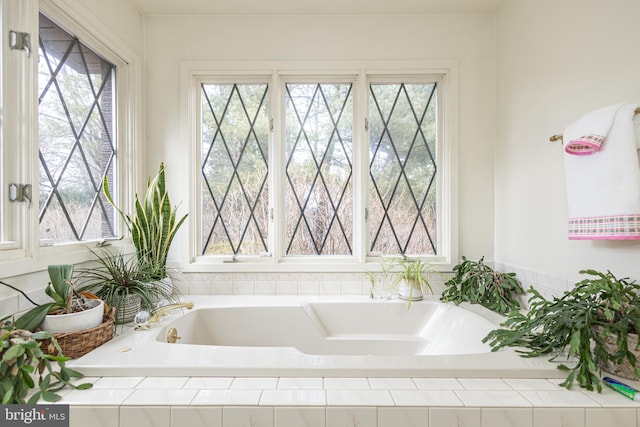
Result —
[{"label": "green foliage growing from the white bowl, without the bowl", "polygon": [[22,314],[15,321],[17,329],[33,332],[47,314],[66,314],[90,308],[86,306],[87,300],[75,291],[71,282],[73,265],[50,265],[48,272],[50,282],[44,292],[52,301],[40,304]]}]

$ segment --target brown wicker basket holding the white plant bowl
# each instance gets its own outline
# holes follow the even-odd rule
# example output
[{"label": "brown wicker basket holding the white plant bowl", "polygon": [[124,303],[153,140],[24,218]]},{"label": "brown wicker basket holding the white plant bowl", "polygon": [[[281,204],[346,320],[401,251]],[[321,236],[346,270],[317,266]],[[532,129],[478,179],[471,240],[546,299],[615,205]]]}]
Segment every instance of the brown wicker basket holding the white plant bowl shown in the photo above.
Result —
[{"label": "brown wicker basket holding the white plant bowl", "polygon": [[[62,349],[62,355],[77,359],[109,341],[113,338],[114,318],[115,309],[111,308],[109,313],[105,314],[102,323],[95,328],[54,334]],[[50,341],[43,341],[42,349],[48,354],[59,356]]]}]

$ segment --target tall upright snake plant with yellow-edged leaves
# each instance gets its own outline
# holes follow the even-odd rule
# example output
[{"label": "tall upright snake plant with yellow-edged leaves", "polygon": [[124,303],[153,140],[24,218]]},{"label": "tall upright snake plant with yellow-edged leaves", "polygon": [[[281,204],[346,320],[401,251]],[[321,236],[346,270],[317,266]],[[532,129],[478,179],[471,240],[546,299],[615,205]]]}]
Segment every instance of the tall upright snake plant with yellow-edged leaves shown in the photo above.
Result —
[{"label": "tall upright snake plant with yellow-edged leaves", "polygon": [[109,191],[109,182],[106,177],[102,183],[102,189],[105,197],[118,211],[131,233],[138,262],[151,267],[153,280],[167,277],[169,247],[187,215],[178,219],[177,206],[171,205],[166,190],[164,163],[160,163],[158,174],[147,181],[144,198],[140,199],[136,194],[133,215],[129,215],[116,205]]}]

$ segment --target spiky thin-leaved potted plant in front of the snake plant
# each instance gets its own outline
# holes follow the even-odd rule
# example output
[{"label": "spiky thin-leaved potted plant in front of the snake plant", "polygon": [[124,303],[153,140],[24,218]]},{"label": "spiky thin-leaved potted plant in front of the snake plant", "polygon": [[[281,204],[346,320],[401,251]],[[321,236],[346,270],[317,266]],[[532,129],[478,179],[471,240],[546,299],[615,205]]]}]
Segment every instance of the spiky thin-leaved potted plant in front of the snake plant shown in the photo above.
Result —
[{"label": "spiky thin-leaved potted plant in front of the snake plant", "polygon": [[172,299],[167,287],[149,284],[154,272],[136,256],[108,250],[92,252],[97,265],[79,270],[78,289],[93,293],[114,307],[116,323],[131,322],[143,306],[151,311],[154,301]]}]

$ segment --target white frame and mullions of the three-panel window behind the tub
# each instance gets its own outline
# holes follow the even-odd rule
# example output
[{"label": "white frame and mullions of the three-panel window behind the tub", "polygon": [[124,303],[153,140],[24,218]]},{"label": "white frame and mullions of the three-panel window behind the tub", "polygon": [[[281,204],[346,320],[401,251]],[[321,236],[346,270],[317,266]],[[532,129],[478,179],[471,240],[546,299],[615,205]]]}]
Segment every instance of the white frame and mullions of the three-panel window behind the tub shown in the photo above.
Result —
[{"label": "white frame and mullions of the three-panel window behind the tub", "polygon": [[[365,220],[369,191],[369,148],[368,118],[369,83],[388,82],[433,82],[438,83],[438,255],[428,256],[431,262],[443,268],[450,268],[457,254],[457,105],[458,105],[458,64],[455,61],[367,61],[367,62],[190,62],[181,63],[180,71],[181,130],[190,144],[190,208],[198,215],[190,229],[189,262],[180,267],[185,272],[255,272],[255,271],[344,271],[360,272],[379,263],[380,257],[369,254],[369,222]],[[243,78],[271,77],[269,83],[270,115],[273,118],[269,156],[269,179],[271,207],[277,211],[284,209],[284,82],[337,81],[350,78],[353,81],[354,129],[353,129],[353,194],[366,194],[353,199],[353,254],[295,256],[284,255],[284,216],[275,214],[270,221],[270,257],[202,256],[199,247],[201,239],[200,175],[198,174],[201,150],[198,122],[199,87],[203,81],[241,82]],[[275,99],[274,99],[275,98]],[[362,143],[363,141],[367,143]],[[358,165],[356,167],[356,165]],[[362,167],[364,165],[364,167]],[[274,177],[277,174],[277,178]],[[271,192],[275,193],[272,194]],[[272,228],[273,227],[273,228]]]}]

